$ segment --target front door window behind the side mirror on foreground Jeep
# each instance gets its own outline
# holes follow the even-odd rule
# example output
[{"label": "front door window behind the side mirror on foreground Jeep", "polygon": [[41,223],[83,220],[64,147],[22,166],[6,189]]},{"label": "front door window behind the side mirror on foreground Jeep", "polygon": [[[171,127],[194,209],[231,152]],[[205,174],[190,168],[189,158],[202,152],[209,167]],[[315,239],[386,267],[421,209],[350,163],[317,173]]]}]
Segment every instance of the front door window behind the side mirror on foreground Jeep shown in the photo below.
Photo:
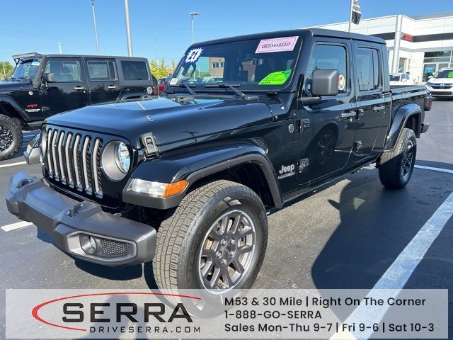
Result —
[{"label": "front door window behind the side mirror on foreground Jeep", "polygon": [[346,47],[341,45],[316,44],[311,52],[309,67],[306,72],[306,90],[310,91],[311,77],[316,69],[337,69],[340,74],[338,93],[344,94],[348,91],[348,66],[346,62]]}]

